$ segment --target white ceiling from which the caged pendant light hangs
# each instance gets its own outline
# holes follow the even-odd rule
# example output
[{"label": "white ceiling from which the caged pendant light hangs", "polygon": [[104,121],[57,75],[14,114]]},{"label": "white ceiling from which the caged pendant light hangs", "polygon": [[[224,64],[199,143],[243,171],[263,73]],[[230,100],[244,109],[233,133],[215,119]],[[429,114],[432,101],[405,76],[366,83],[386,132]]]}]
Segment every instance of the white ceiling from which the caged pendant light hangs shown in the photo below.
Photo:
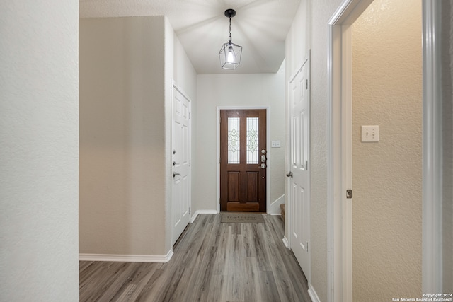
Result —
[{"label": "white ceiling from which the caged pendant light hangs", "polygon": [[[285,59],[285,38],[300,0],[80,0],[81,18],[167,16],[197,74],[277,72]],[[228,42],[243,47],[241,65],[220,68],[219,50]]]}]

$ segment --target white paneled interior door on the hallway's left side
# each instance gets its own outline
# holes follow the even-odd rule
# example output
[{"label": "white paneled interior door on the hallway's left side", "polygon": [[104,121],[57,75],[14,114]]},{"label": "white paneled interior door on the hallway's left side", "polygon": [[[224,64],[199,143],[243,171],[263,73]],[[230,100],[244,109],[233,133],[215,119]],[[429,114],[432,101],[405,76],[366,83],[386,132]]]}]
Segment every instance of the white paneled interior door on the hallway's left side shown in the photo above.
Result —
[{"label": "white paneled interior door on the hallway's left side", "polygon": [[171,243],[190,221],[190,100],[173,86]]}]

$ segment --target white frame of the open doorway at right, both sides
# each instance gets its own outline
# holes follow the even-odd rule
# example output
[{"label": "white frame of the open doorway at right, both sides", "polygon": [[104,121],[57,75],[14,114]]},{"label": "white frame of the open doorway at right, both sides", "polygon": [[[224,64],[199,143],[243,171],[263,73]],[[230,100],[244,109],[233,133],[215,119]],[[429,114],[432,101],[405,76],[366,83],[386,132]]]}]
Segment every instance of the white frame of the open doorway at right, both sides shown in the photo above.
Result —
[{"label": "white frame of the open doorway at right, both sides", "polygon": [[[350,25],[372,0],[344,0],[328,21],[327,266],[328,301],[352,301],[352,65]],[[423,292],[442,293],[441,6],[423,13]]]}]

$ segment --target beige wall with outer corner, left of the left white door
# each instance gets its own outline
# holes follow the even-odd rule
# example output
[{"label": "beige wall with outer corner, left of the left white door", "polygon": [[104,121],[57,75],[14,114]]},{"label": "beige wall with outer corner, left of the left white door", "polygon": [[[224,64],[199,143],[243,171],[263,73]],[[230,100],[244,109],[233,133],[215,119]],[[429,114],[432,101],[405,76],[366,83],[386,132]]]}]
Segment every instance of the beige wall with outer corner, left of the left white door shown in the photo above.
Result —
[{"label": "beige wall with outer corner, left of the left white door", "polygon": [[171,250],[171,81],[196,76],[164,16],[80,21],[80,252]]}]

